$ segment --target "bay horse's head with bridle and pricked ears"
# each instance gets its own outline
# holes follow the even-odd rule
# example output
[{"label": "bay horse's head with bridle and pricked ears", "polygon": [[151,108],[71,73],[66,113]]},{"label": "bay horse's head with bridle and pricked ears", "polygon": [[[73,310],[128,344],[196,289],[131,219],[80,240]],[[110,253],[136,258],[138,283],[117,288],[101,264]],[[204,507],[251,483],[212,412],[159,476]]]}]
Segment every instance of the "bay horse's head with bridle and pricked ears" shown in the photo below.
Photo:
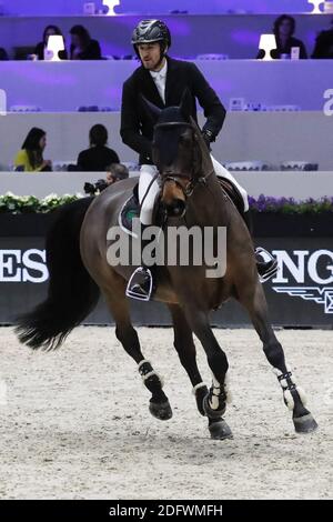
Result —
[{"label": "bay horse's head with bridle and pricked ears", "polygon": [[161,110],[145,103],[154,117],[152,158],[162,185],[161,203],[171,217],[182,217],[196,183],[212,170],[210,153],[191,117],[192,97],[185,91],[179,107]]}]

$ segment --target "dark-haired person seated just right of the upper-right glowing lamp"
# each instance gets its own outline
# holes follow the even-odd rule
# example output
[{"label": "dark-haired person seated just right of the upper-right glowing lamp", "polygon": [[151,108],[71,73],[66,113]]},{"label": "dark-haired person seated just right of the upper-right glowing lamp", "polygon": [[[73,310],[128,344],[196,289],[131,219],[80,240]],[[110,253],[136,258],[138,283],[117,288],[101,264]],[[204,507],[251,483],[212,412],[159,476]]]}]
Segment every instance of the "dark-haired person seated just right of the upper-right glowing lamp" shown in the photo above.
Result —
[{"label": "dark-haired person seated just right of the upper-right glowing lamp", "polygon": [[[293,47],[300,48],[300,59],[307,58],[306,49],[302,40],[293,37],[295,29],[296,22],[293,17],[281,14],[281,17],[276,18],[273,27],[273,32],[276,39],[276,49],[271,52],[272,58],[275,60],[286,57],[290,58]],[[263,57],[264,51],[260,49],[256,58],[262,59]]]}]

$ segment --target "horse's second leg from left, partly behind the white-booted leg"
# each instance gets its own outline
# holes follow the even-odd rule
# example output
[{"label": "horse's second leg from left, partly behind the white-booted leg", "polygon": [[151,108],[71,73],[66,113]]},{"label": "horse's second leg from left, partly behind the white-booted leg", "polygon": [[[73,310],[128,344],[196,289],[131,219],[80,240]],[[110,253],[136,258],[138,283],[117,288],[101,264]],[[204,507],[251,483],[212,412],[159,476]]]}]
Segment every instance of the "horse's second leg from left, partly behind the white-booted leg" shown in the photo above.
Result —
[{"label": "horse's second leg from left, partly behind the white-booted leg", "polygon": [[173,345],[178,352],[180,362],[185,369],[192,383],[199,413],[201,413],[201,415],[205,415],[205,411],[203,409],[203,399],[209,393],[209,391],[204,382],[202,382],[202,377],[200,375],[198,369],[192,331],[182,309],[178,304],[169,304],[168,307],[173,322]]}]

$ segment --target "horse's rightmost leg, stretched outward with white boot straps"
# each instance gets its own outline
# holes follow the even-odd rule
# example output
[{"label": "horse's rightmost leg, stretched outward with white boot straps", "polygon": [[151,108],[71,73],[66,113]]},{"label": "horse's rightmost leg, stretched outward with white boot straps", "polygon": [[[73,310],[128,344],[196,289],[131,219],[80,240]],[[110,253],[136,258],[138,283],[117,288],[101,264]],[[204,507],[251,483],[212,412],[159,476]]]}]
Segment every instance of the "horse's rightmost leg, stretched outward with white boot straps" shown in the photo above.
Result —
[{"label": "horse's rightmost leg, stretched outward with white boot straps", "polygon": [[290,368],[285,363],[282,345],[278,341],[268,317],[266,299],[260,282],[253,291],[243,285],[239,294],[240,302],[248,309],[253,325],[263,342],[268,361],[272,364],[283,391],[286,406],[293,412],[293,423],[297,433],[310,433],[317,428],[312,414],[305,408],[305,393],[296,384]]}]

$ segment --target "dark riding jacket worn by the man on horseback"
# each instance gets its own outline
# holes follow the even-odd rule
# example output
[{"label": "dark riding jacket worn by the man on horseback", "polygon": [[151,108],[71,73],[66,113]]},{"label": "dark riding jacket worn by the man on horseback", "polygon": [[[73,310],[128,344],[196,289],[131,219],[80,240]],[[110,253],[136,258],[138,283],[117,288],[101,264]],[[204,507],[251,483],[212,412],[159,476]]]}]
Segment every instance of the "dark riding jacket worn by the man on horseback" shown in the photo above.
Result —
[{"label": "dark riding jacket worn by the man on horseback", "polygon": [[223,104],[194,63],[169,57],[167,60],[165,104],[152,76],[143,66],[139,67],[123,84],[120,134],[127,145],[139,152],[140,164],[152,163],[151,141],[153,137],[153,120],[143,107],[140,94],[143,94],[157,107],[164,109],[165,107],[179,106],[182,94],[188,88],[193,99],[192,117],[196,121],[196,98],[206,118],[202,130],[209,130],[212,133],[212,141],[220,132],[225,118]]}]

